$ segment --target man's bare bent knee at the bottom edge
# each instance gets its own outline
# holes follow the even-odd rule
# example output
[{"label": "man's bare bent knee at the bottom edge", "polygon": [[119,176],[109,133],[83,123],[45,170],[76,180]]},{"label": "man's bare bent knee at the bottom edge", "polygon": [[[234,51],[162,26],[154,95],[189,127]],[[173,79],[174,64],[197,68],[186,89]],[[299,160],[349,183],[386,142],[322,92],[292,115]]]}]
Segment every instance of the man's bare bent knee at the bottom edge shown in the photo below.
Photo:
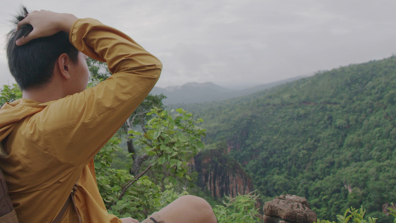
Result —
[{"label": "man's bare bent knee at the bottom edge", "polygon": [[158,214],[166,223],[217,223],[208,202],[192,195],[177,198]]}]

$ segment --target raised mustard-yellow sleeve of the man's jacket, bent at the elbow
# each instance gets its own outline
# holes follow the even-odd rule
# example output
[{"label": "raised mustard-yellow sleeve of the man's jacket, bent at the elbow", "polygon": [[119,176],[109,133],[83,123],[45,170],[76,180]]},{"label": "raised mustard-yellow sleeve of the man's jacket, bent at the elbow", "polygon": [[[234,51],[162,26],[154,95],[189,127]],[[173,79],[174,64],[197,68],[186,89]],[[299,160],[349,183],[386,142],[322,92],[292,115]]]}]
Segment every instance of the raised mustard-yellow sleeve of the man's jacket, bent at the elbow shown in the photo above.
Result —
[{"label": "raised mustard-yellow sleeve of the man's jacket, bent at the elbow", "polygon": [[95,19],[77,20],[70,42],[107,62],[113,75],[93,88],[50,102],[36,121],[41,119],[52,145],[48,152],[82,169],[148,95],[162,64],[130,37]]}]

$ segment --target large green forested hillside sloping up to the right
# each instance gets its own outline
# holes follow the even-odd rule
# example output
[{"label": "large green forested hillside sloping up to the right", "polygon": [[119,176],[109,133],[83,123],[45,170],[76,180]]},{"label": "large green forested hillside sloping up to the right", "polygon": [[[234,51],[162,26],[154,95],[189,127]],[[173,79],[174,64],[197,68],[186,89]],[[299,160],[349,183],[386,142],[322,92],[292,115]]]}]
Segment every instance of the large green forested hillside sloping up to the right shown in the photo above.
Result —
[{"label": "large green forested hillside sloping up to the right", "polygon": [[226,141],[264,196],[296,194],[318,217],[350,206],[387,222],[396,202],[396,57],[223,102],[185,105],[206,144]]}]

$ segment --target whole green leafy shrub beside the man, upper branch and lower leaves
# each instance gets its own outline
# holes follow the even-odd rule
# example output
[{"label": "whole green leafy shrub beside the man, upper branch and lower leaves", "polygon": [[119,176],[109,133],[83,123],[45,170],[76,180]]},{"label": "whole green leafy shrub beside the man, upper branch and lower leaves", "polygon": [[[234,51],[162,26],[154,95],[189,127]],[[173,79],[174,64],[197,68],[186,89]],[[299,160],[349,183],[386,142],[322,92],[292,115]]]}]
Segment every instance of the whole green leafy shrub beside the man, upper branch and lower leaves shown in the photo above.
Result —
[{"label": "whole green leafy shrub beside the man, upper branch and lower leaves", "polygon": [[[154,117],[147,122],[146,133],[130,131],[136,138],[135,144],[141,148],[139,151],[150,156],[148,166],[141,173],[133,176],[127,170],[110,168],[114,154],[120,151],[120,140],[116,137],[95,156],[97,183],[109,213],[145,219],[179,196],[188,194],[185,188],[177,188],[179,185],[173,186],[171,182],[181,177],[189,179],[185,160],[203,146],[200,137],[204,130],[195,126],[202,119],[194,120],[192,114],[183,109],[171,112],[154,108],[147,113]],[[167,185],[158,186],[147,176],[148,172],[165,175],[161,185],[165,185],[164,181]]]}]

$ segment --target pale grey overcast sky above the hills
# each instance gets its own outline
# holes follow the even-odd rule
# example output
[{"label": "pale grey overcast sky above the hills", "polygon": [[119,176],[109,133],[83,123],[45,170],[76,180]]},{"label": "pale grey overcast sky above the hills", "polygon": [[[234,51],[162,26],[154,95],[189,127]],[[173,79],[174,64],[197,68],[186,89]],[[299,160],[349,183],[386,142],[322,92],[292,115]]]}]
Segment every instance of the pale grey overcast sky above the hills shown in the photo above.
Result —
[{"label": "pale grey overcast sky above the hills", "polygon": [[258,85],[396,52],[395,0],[2,0],[0,85],[14,83],[4,37],[20,4],[124,31],[164,64],[158,87]]}]

